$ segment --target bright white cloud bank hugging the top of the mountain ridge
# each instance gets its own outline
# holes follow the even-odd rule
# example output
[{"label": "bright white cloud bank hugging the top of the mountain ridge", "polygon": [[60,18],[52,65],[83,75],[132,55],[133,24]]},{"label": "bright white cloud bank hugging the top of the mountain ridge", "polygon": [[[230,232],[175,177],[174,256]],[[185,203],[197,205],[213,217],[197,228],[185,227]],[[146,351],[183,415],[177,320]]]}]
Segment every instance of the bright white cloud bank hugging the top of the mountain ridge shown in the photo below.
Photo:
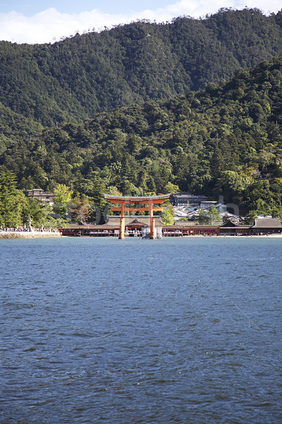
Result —
[{"label": "bright white cloud bank hugging the top of the mountain ridge", "polygon": [[[228,7],[256,7],[269,13],[281,10],[281,0],[230,0]],[[226,0],[180,0],[157,10],[130,12],[128,14],[109,14],[94,9],[90,12],[59,13],[55,8],[26,17],[22,13],[0,13],[0,40],[30,44],[59,41],[61,37],[69,37],[83,31],[102,30],[104,26],[111,28],[120,23],[129,23],[136,19],[156,20],[166,22],[177,16],[193,16],[198,18],[207,13],[216,13],[221,7],[226,7]],[[267,10],[265,8],[267,7]]]}]

